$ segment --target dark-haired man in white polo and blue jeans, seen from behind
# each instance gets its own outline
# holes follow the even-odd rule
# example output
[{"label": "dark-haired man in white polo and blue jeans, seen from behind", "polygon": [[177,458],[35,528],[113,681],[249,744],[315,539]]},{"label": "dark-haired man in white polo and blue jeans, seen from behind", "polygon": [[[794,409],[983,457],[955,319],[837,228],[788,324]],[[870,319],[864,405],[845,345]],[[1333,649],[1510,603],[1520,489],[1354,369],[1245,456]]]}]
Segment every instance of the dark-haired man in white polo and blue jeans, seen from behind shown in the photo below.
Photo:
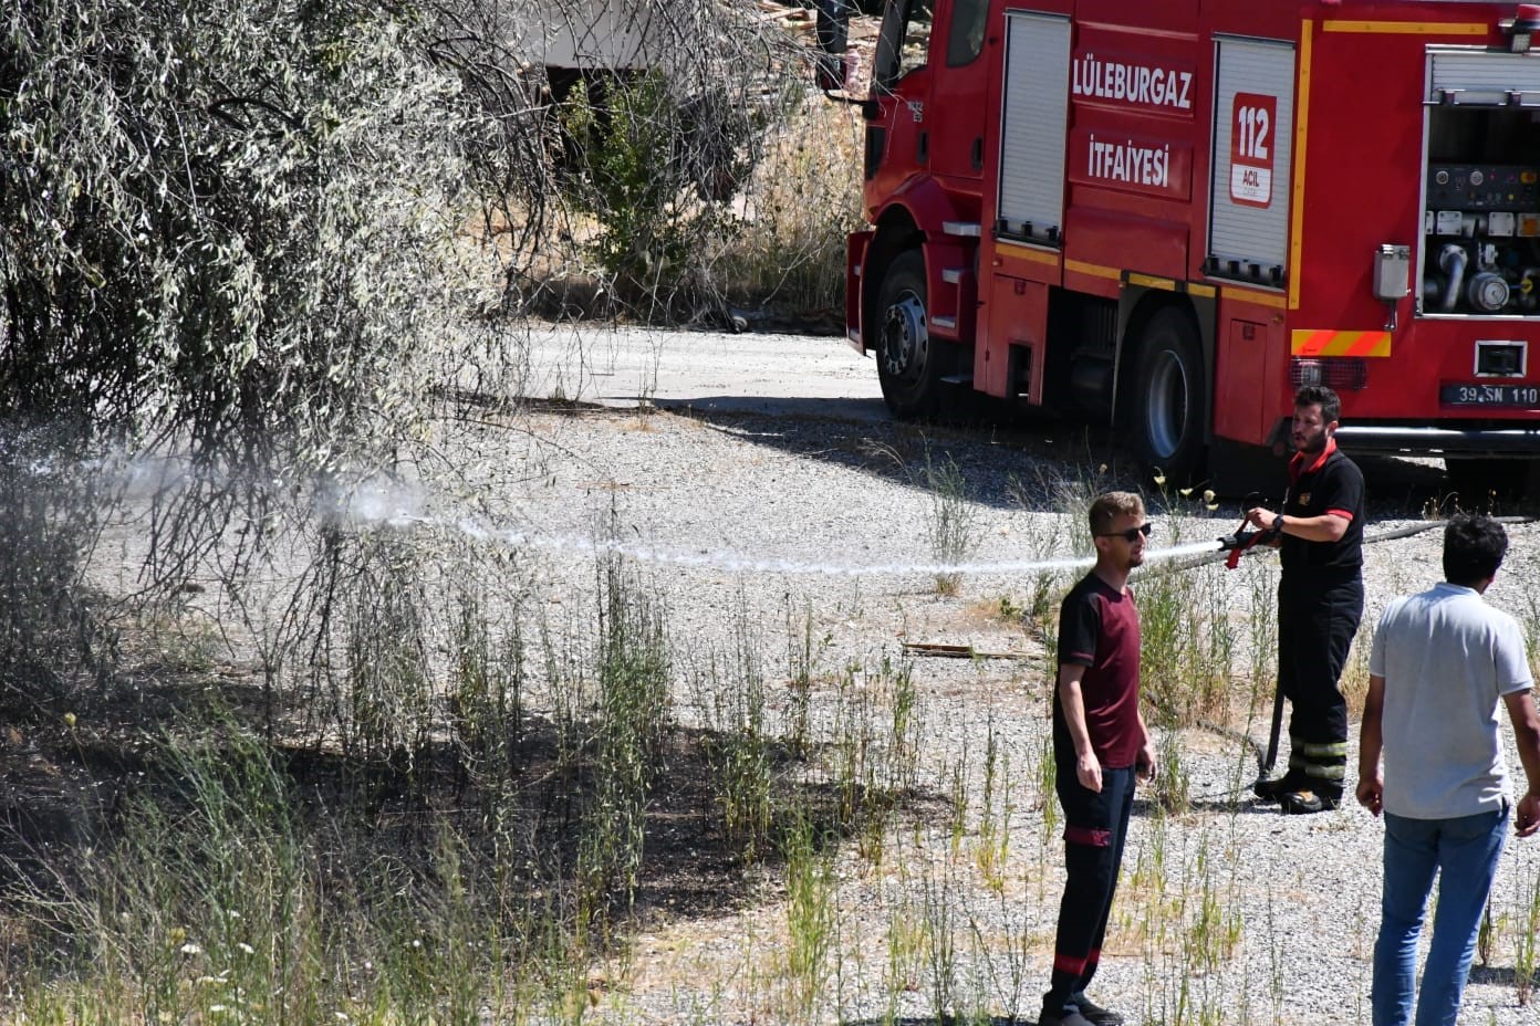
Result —
[{"label": "dark-haired man in white polo and blue jeans, seen from behind", "polygon": [[[1455,1026],[1512,800],[1498,743],[1508,706],[1529,789],[1520,837],[1540,828],[1540,715],[1525,635],[1481,598],[1508,552],[1489,517],[1445,528],[1446,583],[1392,601],[1374,635],[1358,751],[1358,801],[1384,812],[1384,897],[1374,946],[1374,1026],[1409,1026],[1417,938],[1438,875],[1438,911],[1417,1026]],[[1384,754],[1384,774],[1380,754]]]}]

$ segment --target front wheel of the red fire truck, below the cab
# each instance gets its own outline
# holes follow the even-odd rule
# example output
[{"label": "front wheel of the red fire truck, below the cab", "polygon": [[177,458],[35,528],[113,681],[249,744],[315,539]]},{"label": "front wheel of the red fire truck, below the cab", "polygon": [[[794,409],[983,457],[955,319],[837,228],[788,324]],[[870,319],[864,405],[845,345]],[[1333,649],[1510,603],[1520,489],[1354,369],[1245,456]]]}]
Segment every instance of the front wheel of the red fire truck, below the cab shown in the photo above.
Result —
[{"label": "front wheel of the red fire truck, below the cab", "polygon": [[906,249],[889,265],[876,303],[876,375],[882,400],[899,420],[941,411],[950,345],[932,338],[926,309],[926,257]]}]

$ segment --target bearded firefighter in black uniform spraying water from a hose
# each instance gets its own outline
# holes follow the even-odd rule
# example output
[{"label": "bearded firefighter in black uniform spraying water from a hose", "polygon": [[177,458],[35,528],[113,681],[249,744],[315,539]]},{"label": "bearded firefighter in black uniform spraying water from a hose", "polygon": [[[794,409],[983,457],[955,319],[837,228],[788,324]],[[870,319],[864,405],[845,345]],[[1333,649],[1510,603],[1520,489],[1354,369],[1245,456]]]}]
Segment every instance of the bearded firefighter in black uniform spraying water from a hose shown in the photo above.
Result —
[{"label": "bearded firefighter in black uniform spraying water from a hose", "polygon": [[1274,532],[1278,689],[1289,700],[1289,769],[1257,781],[1286,814],[1335,809],[1348,769],[1348,701],[1338,688],[1363,617],[1363,472],[1337,451],[1341,400],[1320,385],[1294,395],[1294,458],[1281,512],[1246,511]]}]

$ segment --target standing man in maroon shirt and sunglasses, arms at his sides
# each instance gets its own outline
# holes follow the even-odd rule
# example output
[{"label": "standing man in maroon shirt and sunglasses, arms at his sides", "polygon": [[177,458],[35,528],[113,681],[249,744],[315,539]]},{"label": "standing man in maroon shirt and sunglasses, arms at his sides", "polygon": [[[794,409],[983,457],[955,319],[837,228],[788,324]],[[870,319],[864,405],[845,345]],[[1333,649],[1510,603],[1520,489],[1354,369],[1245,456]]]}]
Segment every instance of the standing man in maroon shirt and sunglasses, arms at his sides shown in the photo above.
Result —
[{"label": "standing man in maroon shirt and sunglasses, arms at his sides", "polygon": [[1053,760],[1064,806],[1064,898],[1053,975],[1038,1026],[1120,1026],[1086,997],[1096,972],[1133,809],[1135,778],[1155,775],[1140,715],[1140,614],[1129,571],[1144,561],[1144,501],[1109,492],[1090,505],[1096,565],[1060,606]]}]

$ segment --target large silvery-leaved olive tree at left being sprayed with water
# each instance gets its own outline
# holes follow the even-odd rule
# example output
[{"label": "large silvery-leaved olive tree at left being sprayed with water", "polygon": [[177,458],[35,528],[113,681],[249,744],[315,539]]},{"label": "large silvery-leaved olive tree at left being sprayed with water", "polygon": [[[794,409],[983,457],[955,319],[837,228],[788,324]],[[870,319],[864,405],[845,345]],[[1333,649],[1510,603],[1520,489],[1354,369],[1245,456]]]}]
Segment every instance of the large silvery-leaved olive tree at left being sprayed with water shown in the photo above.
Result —
[{"label": "large silvery-leaved olive tree at left being sprayed with water", "polygon": [[[504,149],[442,11],[31,0],[0,14],[0,666],[89,648],[75,588],[114,461],[151,583],[319,477],[391,458],[496,301]],[[504,178],[516,177],[502,174]],[[260,532],[251,537],[259,537]],[[60,634],[59,628],[69,628]]]}]

